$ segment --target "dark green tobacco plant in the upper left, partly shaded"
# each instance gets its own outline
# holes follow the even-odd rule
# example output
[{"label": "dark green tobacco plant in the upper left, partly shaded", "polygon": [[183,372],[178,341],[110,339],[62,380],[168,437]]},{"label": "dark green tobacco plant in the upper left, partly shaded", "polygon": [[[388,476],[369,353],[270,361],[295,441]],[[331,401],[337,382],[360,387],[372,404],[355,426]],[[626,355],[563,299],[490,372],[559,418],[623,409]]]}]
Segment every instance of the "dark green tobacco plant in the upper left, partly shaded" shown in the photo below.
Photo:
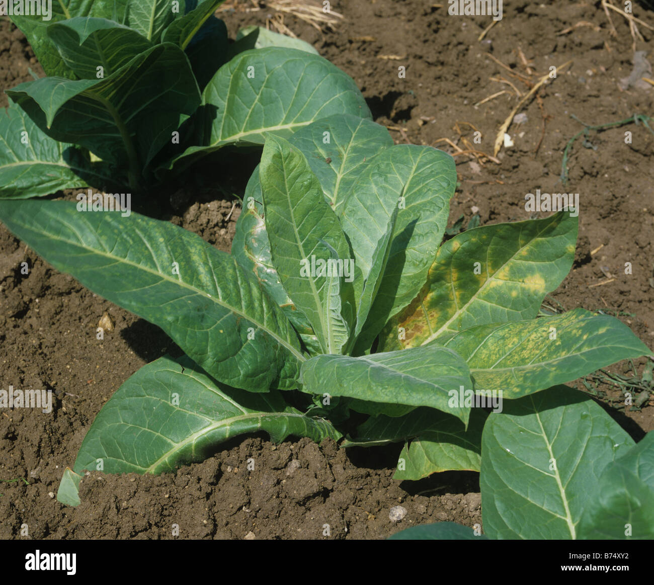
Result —
[{"label": "dark green tobacco plant in the upper left, partly shaded", "polygon": [[353,80],[310,45],[261,29],[228,45],[213,16],[222,1],[60,0],[51,20],[12,16],[46,77],[7,90],[0,197],[152,190],[266,131],[370,117]]}]

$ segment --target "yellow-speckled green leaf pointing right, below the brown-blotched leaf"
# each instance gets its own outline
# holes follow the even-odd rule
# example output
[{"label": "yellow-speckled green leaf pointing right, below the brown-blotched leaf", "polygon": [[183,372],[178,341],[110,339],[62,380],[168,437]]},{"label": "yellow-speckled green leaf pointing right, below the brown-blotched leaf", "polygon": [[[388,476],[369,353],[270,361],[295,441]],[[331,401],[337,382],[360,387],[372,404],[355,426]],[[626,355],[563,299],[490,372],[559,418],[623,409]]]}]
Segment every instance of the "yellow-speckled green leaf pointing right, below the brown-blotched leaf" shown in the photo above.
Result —
[{"label": "yellow-speckled green leaf pointing right, below the brown-blotched leaf", "polygon": [[501,390],[504,398],[519,398],[576,380],[621,359],[651,353],[615,317],[584,309],[471,327],[447,341],[441,339],[443,346],[468,362],[475,391]]}]

